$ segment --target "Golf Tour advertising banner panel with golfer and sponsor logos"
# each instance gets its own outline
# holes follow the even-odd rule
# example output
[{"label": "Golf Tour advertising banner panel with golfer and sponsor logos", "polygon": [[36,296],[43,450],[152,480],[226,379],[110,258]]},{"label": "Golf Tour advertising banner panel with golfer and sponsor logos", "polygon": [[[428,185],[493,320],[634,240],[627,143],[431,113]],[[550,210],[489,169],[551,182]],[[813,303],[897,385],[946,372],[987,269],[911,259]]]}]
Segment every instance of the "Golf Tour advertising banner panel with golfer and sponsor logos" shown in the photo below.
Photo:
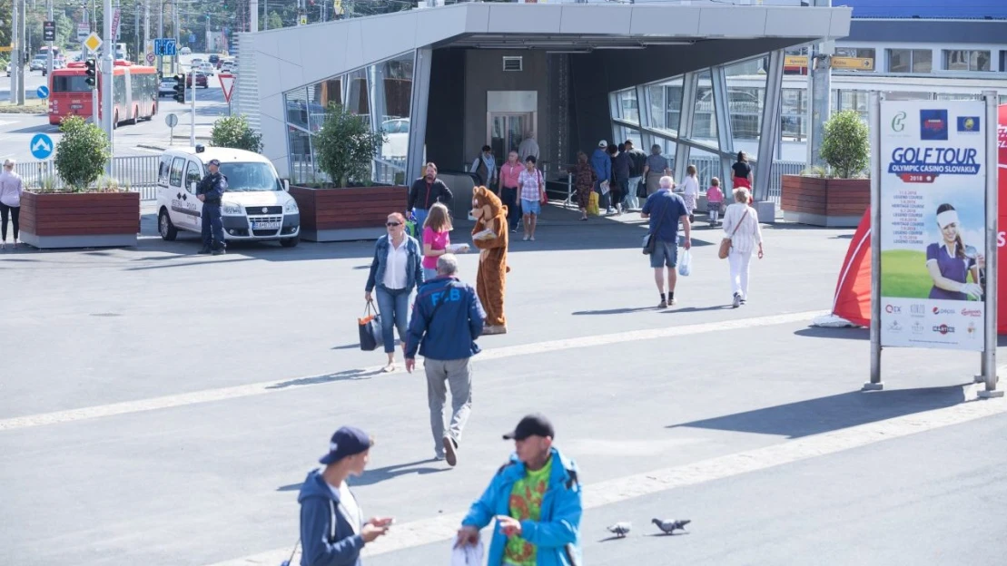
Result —
[{"label": "Golf Tour advertising banner panel with golfer and sponsor logos", "polygon": [[882,101],[881,346],[982,351],[986,104]]}]

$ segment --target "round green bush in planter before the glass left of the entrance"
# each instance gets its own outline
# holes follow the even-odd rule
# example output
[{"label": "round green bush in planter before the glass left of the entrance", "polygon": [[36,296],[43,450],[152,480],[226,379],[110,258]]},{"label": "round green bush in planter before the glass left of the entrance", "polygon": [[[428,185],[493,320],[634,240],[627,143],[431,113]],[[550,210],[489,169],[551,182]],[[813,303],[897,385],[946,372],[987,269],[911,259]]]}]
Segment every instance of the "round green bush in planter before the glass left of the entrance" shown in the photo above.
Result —
[{"label": "round green bush in planter before the glass left of the entrance", "polygon": [[319,169],[339,187],[347,186],[350,180],[370,180],[371,161],[386,141],[385,134],[372,132],[367,118],[334,103],[325,114],[325,123],[314,139]]}]

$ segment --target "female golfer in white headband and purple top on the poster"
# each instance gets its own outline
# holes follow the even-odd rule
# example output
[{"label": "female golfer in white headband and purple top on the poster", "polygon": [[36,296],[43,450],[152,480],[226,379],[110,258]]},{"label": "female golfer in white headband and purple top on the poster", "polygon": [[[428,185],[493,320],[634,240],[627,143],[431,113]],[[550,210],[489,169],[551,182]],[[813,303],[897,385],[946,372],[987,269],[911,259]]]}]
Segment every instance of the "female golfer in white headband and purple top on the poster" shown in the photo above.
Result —
[{"label": "female golfer in white headband and purple top on the poster", "polygon": [[[979,301],[983,297],[983,288],[978,282],[979,270],[985,267],[986,256],[974,252],[967,254],[954,206],[946,203],[938,207],[938,229],[943,241],[926,246],[926,269],[933,279],[929,298]],[[970,272],[973,282],[969,282]]]}]

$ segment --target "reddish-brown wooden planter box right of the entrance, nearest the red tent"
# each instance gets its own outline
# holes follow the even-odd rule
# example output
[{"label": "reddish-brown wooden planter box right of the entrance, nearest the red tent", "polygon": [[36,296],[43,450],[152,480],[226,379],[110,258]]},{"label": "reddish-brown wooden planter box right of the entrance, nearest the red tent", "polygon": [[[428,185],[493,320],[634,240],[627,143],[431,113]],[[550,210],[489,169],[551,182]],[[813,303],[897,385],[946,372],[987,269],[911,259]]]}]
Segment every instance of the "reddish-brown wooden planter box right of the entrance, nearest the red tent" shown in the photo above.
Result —
[{"label": "reddish-brown wooden planter box right of the entrance, nearest the red tent", "polygon": [[871,181],[783,175],[779,203],[788,222],[855,228],[871,204]]}]

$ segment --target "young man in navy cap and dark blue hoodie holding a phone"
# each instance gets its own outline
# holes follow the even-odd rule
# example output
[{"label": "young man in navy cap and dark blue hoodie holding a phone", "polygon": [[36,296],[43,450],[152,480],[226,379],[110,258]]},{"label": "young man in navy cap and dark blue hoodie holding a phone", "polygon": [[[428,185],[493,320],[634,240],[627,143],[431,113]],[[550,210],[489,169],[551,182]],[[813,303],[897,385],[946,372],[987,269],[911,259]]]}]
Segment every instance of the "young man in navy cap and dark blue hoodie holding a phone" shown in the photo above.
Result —
[{"label": "young man in navy cap and dark blue hoodie holding a phone", "polygon": [[324,468],[304,480],[301,504],[301,566],[359,566],[361,550],[388,532],[393,519],[364,522],[346,478],[364,474],[374,439],[359,428],[343,426],[332,434],[328,453],[318,459]]}]

